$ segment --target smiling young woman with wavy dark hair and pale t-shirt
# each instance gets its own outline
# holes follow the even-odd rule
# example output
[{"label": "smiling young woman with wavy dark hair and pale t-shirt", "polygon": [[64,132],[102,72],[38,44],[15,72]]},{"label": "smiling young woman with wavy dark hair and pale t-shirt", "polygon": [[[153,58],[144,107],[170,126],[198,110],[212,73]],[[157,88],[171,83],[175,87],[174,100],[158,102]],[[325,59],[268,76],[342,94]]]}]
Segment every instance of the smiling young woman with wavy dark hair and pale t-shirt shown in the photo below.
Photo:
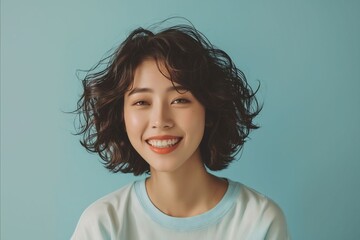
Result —
[{"label": "smiling young woman with wavy dark hair and pale t-shirt", "polygon": [[229,165],[261,107],[196,29],[136,29],[83,84],[82,145],[113,172],[148,177],[88,207],[73,240],[289,239],[273,201],[207,171]]}]

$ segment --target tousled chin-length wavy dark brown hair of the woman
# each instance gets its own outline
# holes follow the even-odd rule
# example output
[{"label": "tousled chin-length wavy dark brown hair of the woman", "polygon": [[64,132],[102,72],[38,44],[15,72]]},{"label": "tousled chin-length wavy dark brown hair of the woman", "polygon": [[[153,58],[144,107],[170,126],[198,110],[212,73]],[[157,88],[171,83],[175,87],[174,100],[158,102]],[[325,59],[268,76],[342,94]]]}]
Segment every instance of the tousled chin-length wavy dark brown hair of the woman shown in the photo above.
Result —
[{"label": "tousled chin-length wavy dark brown hair of the woman", "polygon": [[[112,172],[149,173],[149,164],[132,147],[124,124],[124,95],[134,71],[145,59],[165,65],[167,78],[188,89],[206,111],[200,143],[204,165],[226,168],[242,149],[253,118],[261,111],[245,75],[228,54],[216,48],[192,25],[176,25],[157,33],[138,28],[108,57],[87,72],[84,92],[74,111],[77,134],[88,151],[98,153]],[[105,69],[97,70],[106,64]]]}]

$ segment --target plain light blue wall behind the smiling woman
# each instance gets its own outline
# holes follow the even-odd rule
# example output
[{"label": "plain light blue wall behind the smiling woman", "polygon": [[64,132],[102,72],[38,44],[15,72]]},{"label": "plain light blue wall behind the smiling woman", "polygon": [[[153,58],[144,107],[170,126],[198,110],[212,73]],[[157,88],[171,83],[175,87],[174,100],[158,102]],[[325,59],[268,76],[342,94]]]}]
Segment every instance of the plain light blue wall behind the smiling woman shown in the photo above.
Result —
[{"label": "plain light blue wall behind the smiling woman", "polygon": [[264,109],[219,172],[270,196],[293,239],[360,239],[360,2],[1,1],[1,239],[68,239],[91,202],[134,180],[72,136],[88,69],[135,27],[190,19]]}]

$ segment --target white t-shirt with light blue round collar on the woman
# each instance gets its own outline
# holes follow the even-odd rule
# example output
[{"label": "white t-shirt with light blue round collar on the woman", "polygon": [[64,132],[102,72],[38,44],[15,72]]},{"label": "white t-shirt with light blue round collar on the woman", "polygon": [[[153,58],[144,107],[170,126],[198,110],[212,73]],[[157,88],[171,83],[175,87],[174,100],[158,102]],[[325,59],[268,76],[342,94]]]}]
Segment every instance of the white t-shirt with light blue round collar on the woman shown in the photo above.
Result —
[{"label": "white t-shirt with light blue round collar on the woman", "polygon": [[222,200],[194,217],[171,217],[150,201],[145,180],[136,181],[90,205],[72,240],[290,239],[281,209],[241,183],[228,180]]}]

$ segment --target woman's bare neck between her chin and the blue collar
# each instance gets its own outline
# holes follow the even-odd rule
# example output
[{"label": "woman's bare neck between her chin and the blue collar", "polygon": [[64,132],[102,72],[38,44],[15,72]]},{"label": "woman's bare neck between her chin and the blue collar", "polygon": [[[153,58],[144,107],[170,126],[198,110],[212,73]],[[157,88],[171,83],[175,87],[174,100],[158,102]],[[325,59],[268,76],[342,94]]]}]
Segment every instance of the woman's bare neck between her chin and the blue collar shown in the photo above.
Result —
[{"label": "woman's bare neck between her chin and the blue collar", "polygon": [[201,162],[193,163],[194,166],[183,171],[151,172],[146,188],[160,211],[170,216],[190,217],[210,210],[221,200],[226,181],[209,174]]}]

